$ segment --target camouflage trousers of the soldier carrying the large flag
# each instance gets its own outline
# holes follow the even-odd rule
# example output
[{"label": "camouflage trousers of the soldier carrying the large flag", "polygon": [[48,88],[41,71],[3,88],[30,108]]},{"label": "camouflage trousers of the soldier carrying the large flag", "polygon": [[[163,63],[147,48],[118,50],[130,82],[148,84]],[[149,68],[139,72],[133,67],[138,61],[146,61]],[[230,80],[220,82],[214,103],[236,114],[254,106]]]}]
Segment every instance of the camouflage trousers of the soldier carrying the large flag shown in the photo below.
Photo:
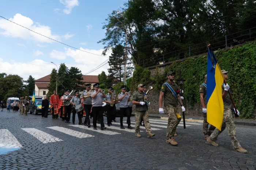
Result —
[{"label": "camouflage trousers of the soldier carrying the large flag", "polygon": [[240,148],[241,145],[236,138],[236,125],[233,121],[231,109],[224,109],[221,131],[215,128],[210,136],[210,139],[215,141],[218,135],[221,134],[221,132],[223,132],[226,127],[227,131],[229,132],[229,137],[231,139],[231,143],[233,144],[234,149]]}]

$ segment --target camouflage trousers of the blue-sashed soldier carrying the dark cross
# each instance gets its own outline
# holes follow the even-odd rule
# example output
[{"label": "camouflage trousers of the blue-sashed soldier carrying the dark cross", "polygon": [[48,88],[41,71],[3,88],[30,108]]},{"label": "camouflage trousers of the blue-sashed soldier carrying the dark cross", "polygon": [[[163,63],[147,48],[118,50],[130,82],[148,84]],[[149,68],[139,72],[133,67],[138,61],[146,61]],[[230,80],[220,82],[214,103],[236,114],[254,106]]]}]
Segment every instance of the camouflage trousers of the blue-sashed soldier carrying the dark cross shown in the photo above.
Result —
[{"label": "camouflage trousers of the blue-sashed soldier carrying the dark cross", "polygon": [[181,118],[176,117],[176,113],[180,113],[179,107],[166,106],[165,110],[168,114],[168,125],[166,131],[166,139],[172,138],[175,134],[176,128],[181,121]]}]

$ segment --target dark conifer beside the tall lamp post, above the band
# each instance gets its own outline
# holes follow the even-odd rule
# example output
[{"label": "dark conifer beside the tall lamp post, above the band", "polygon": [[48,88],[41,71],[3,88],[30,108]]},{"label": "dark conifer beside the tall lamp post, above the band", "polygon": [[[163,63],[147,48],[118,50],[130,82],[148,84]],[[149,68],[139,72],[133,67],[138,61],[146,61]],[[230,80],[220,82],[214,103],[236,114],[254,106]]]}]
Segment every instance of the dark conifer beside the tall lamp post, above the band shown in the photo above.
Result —
[{"label": "dark conifer beside the tall lamp post, above the band", "polygon": [[117,45],[112,49],[112,53],[109,56],[109,66],[108,69],[109,76],[118,78],[121,82],[121,72],[123,72],[123,57],[125,56],[124,47],[122,45]]}]

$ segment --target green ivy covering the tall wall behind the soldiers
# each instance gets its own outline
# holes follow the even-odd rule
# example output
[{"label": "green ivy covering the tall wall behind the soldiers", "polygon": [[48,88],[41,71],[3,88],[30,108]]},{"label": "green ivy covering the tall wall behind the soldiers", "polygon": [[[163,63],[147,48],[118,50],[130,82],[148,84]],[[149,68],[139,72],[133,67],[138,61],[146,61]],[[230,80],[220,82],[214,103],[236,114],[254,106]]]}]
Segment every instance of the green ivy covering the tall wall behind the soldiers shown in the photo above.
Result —
[{"label": "green ivy covering the tall wall behind the soldiers", "polygon": [[[243,109],[243,118],[251,118],[256,100],[256,43],[246,44],[228,51],[218,50],[215,53],[221,69],[229,71],[231,93],[238,110]],[[165,67],[165,73],[157,73],[154,77],[148,69],[136,66],[131,81],[131,89],[135,90],[139,83],[153,84],[155,90],[159,90],[167,80],[166,73],[170,70],[178,73],[181,69],[182,78],[186,79],[184,87],[185,100],[191,107],[195,103],[200,104],[199,85],[204,82],[207,73],[207,55],[175,62]],[[176,76],[177,78],[178,75]],[[241,100],[239,102],[239,99]]]}]

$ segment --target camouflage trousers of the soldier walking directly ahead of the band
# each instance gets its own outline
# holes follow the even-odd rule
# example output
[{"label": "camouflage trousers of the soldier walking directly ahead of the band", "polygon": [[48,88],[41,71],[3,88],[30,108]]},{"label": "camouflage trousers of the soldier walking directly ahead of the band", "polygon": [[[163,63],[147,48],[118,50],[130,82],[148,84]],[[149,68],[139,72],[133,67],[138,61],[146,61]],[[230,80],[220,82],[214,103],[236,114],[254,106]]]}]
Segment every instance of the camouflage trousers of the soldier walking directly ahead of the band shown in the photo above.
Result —
[{"label": "camouflage trousers of the soldier walking directly ahead of the band", "polygon": [[140,111],[140,112],[135,112],[135,134],[140,133],[140,120],[143,118],[144,125],[146,128],[147,134],[151,133],[151,127],[150,123],[148,120],[148,111]]}]

